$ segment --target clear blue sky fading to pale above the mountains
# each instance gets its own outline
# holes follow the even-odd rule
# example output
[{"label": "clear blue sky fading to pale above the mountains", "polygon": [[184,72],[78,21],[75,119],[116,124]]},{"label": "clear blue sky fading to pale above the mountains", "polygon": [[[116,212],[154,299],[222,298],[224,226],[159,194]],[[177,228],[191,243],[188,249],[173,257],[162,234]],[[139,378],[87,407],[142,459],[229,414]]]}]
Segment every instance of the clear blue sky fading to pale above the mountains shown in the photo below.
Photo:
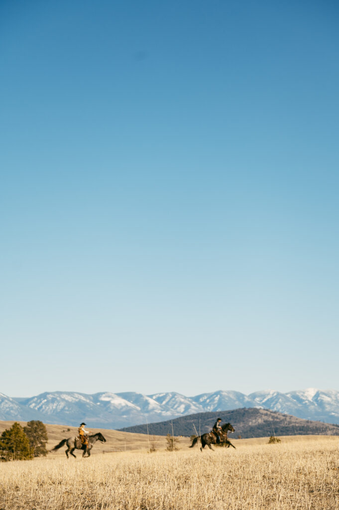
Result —
[{"label": "clear blue sky fading to pale above the mountains", "polygon": [[338,14],[1,2],[0,392],[339,389]]}]

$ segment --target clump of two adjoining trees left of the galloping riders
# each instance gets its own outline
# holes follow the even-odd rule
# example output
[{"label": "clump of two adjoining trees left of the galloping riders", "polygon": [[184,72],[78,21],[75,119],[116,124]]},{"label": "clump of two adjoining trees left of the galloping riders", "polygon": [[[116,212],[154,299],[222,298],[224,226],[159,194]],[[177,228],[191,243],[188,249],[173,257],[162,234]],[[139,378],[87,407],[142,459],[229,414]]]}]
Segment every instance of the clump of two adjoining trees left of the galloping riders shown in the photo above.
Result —
[{"label": "clump of two adjoining trees left of the galloping riders", "polygon": [[27,461],[47,454],[47,430],[42,421],[31,420],[21,427],[15,422],[0,436],[1,461]]}]

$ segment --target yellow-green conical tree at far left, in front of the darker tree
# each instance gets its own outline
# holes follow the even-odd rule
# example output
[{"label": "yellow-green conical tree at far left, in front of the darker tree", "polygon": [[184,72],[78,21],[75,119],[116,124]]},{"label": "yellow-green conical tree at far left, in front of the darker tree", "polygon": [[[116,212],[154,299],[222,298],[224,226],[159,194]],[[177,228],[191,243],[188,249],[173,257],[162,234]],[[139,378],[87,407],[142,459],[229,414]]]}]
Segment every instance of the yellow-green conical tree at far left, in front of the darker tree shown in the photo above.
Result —
[{"label": "yellow-green conical tree at far left, in front of the darker tree", "polygon": [[28,437],[17,422],[0,436],[0,456],[5,461],[24,461],[33,458]]}]

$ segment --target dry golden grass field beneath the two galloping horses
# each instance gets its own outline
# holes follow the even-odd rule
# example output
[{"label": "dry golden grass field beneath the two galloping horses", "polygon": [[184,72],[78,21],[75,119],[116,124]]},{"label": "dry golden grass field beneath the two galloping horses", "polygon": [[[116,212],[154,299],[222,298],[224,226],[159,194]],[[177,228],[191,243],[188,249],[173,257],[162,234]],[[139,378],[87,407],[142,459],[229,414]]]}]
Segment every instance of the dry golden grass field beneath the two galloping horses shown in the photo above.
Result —
[{"label": "dry golden grass field beneath the two galloping horses", "polygon": [[[65,427],[50,427],[49,447],[67,436]],[[147,436],[102,433],[106,453],[95,454],[94,446],[90,458],[67,461],[62,448],[0,464],[0,509],[339,510],[337,437],[282,437],[273,445],[268,438],[233,440],[236,450],[203,453],[189,449],[188,438],[167,452],[164,438],[156,438],[159,450],[148,453]]]}]

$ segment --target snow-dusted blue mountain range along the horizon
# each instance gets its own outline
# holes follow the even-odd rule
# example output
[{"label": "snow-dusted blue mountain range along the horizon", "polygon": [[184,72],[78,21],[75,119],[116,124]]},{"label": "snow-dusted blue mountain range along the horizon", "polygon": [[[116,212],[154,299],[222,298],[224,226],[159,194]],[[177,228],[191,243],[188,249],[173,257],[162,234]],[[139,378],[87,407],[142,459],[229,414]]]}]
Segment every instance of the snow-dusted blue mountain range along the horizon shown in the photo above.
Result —
[{"label": "snow-dusted blue mountain range along the horizon", "polygon": [[11,398],[0,393],[0,420],[41,420],[45,423],[121,428],[160,422],[183,415],[259,407],[298,418],[339,423],[339,391],[307,390],[279,393],[267,390],[244,395],[216,391],[186,397],[179,393],[45,392],[30,398]]}]

